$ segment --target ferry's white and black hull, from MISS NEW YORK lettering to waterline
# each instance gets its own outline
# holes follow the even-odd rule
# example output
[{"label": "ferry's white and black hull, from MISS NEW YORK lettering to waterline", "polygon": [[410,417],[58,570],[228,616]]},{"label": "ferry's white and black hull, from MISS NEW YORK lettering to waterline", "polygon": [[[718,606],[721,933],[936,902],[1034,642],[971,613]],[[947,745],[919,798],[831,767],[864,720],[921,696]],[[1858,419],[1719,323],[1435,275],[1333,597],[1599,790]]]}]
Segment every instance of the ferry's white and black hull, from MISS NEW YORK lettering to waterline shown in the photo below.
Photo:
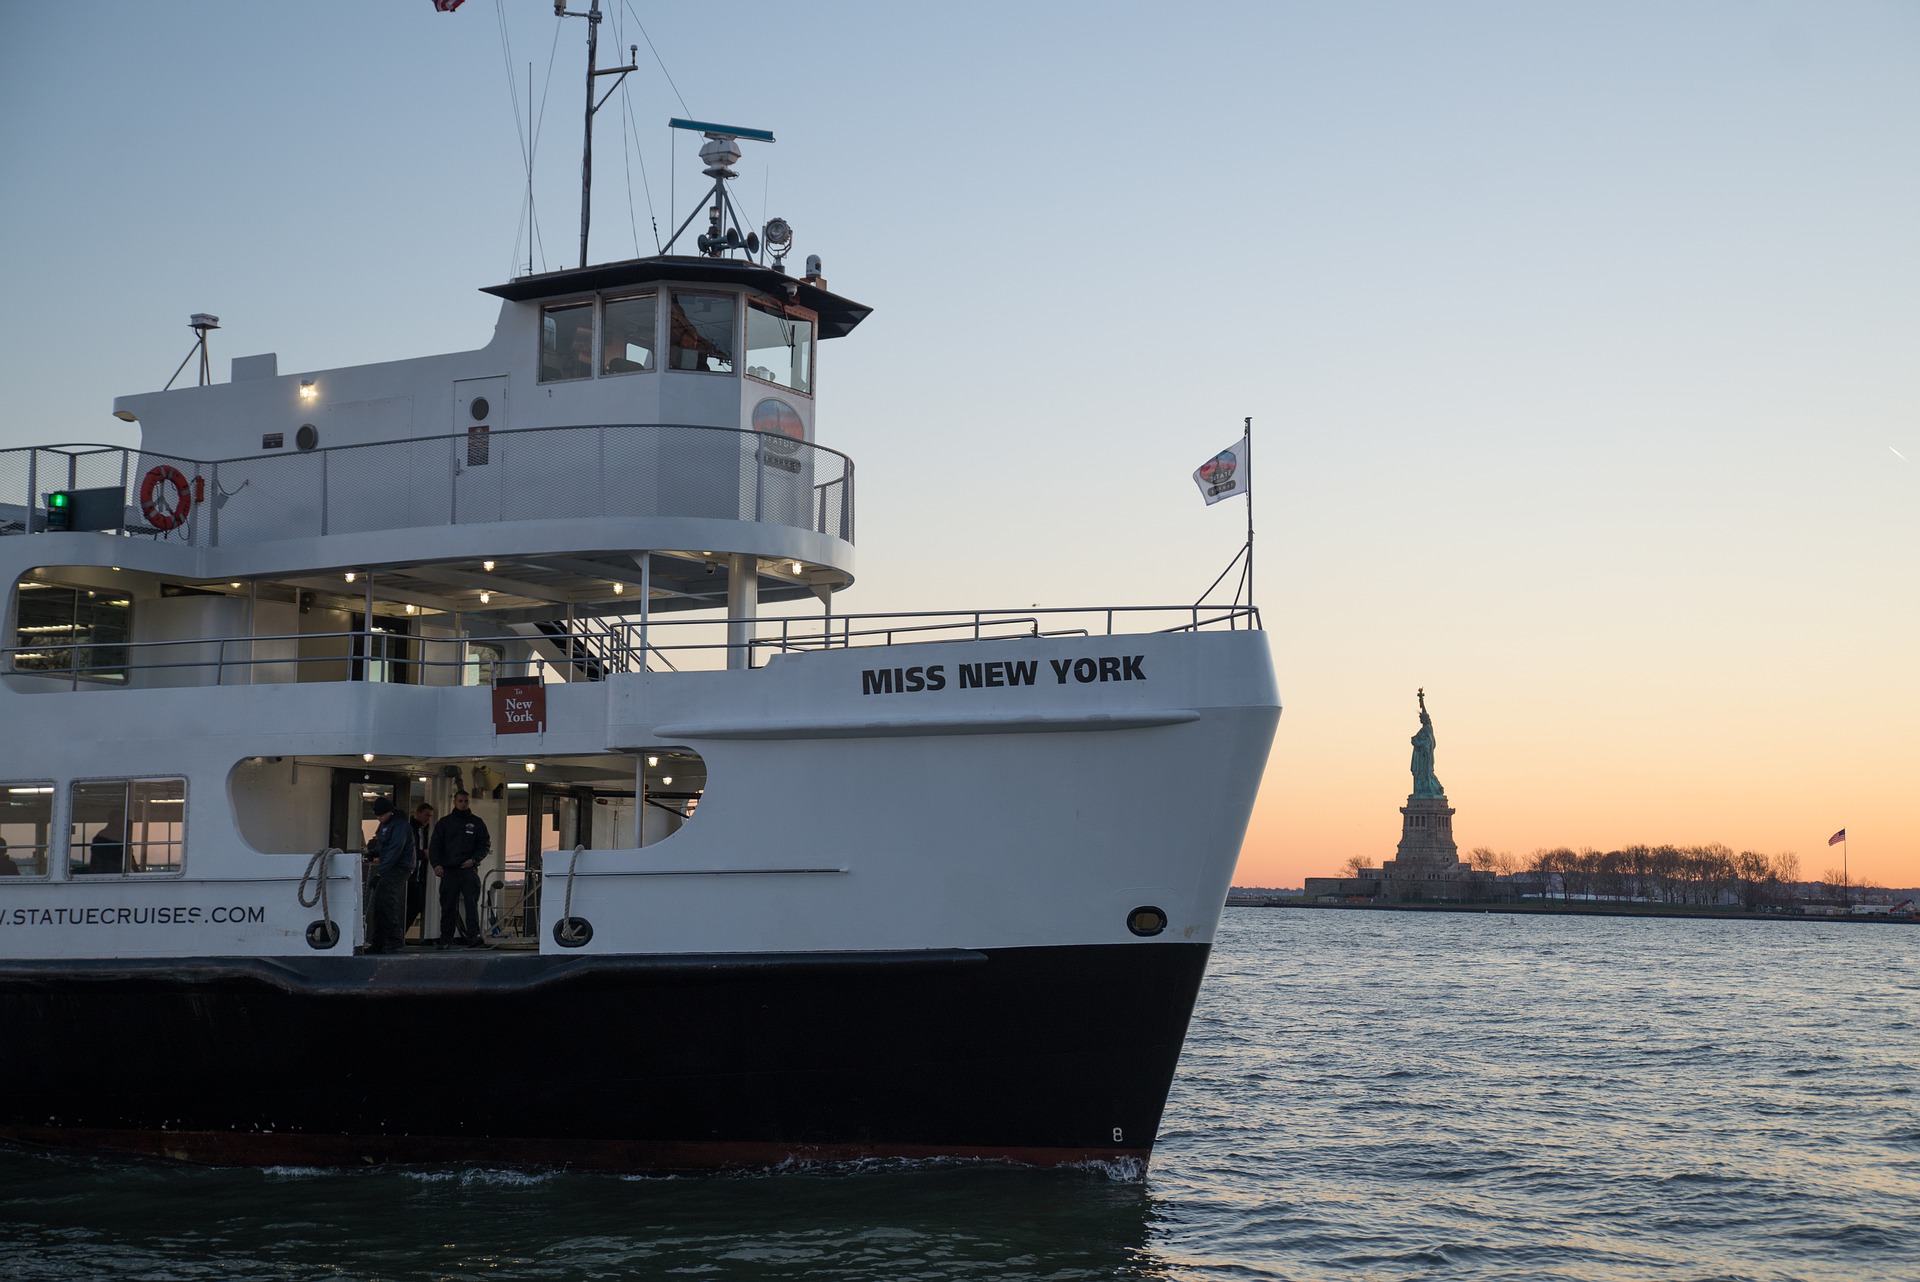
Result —
[{"label": "ferry's white and black hull, from MISS NEW YORK lettering to waterline", "polygon": [[[336,858],[342,937],[317,948],[307,854],[248,846],[221,781],[253,756],[499,754],[486,695],[127,691],[123,739],[71,750],[40,729],[92,695],[13,699],[61,783],[156,760],[165,727],[194,839],[177,879],[0,892],[0,1136],[225,1163],[1150,1155],[1279,718],[1263,633],[553,687],[518,750],[707,768],[670,839],[584,850],[570,885],[549,856],[549,925],[566,902],[591,937],[351,956]],[[1139,908],[1165,925],[1135,933]],[[102,1067],[129,1048],[138,1071]]]}]

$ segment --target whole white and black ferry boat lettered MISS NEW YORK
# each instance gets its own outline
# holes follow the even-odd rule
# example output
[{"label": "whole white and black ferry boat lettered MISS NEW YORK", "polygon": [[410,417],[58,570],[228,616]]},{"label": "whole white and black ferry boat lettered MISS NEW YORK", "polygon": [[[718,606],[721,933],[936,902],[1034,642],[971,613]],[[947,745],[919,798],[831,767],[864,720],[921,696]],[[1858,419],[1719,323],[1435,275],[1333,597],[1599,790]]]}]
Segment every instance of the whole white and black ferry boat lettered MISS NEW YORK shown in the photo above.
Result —
[{"label": "whole white and black ferry boat lettered MISS NEW YORK", "polygon": [[[741,226],[770,134],[676,125],[697,251],[582,240],[380,365],[213,382],[196,315],[136,447],[0,451],[0,1138],[1144,1169],[1279,718],[1258,614],[835,610],[818,365],[868,307]],[[488,946],[428,892],[367,952],[376,808],[461,791]]]}]

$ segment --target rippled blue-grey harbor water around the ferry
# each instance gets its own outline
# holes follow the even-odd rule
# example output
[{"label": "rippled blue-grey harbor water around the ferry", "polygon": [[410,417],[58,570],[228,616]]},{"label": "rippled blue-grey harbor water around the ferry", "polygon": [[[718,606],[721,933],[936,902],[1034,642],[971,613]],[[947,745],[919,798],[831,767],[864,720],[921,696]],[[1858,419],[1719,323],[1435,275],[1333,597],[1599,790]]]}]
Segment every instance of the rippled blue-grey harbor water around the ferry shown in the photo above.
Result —
[{"label": "rippled blue-grey harbor water around the ferry", "polygon": [[0,1150],[0,1278],[1920,1278],[1916,948],[1231,910],[1144,1180]]}]

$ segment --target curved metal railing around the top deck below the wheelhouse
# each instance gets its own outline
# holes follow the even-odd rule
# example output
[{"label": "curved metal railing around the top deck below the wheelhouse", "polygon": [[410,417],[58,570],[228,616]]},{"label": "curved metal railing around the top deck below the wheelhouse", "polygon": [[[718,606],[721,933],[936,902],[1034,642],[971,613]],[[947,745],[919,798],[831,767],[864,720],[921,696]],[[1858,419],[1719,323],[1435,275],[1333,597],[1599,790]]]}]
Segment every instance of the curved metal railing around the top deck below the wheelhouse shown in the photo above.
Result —
[{"label": "curved metal railing around the top deck below the wheelhouse", "polygon": [[[173,528],[142,507],[156,468],[194,495]],[[753,520],[852,543],[854,524],[852,459],[837,449],[743,428],[595,424],[215,463],[119,445],[0,449],[0,535],[44,532],[56,489],[115,486],[117,532],[190,547],[570,516]]]}]

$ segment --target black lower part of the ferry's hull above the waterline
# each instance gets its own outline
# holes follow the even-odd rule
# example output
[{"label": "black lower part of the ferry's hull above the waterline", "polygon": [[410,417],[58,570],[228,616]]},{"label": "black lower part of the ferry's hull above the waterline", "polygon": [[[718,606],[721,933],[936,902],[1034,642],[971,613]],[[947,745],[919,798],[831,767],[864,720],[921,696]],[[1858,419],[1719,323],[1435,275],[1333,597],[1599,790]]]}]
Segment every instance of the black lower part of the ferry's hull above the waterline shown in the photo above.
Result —
[{"label": "black lower part of the ferry's hull above the waterline", "polygon": [[1144,1161],[1206,958],[0,963],[0,1138],[217,1163]]}]

